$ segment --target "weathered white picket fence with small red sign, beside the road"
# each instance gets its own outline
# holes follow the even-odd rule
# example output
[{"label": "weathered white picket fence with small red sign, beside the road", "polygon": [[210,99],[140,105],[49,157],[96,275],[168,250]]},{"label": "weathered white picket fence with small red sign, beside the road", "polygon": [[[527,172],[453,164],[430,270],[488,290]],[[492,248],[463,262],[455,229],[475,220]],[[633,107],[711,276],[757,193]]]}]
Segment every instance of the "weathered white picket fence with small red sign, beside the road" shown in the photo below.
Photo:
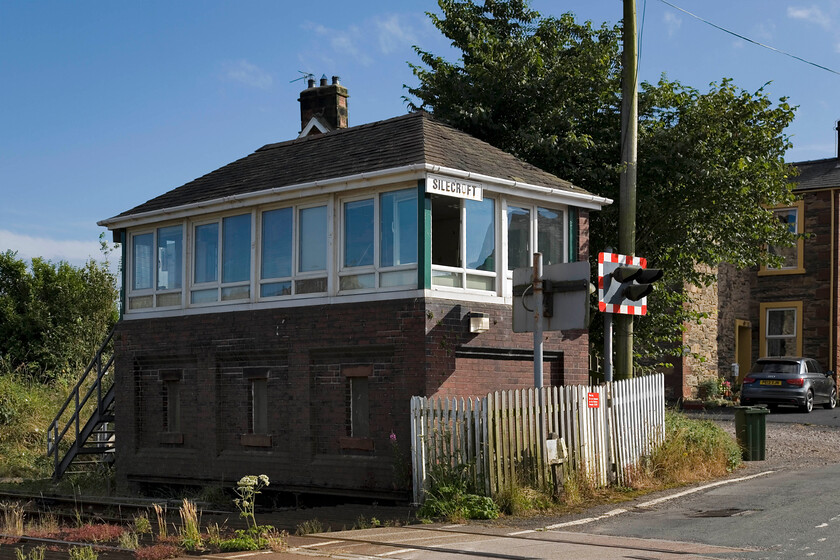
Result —
[{"label": "weathered white picket fence with small red sign, beside the road", "polygon": [[[662,374],[540,391],[543,406],[535,389],[481,398],[412,397],[415,502],[423,501],[430,468],[440,463],[467,465],[477,487],[489,496],[514,482],[550,484],[541,432],[565,441],[566,474],[582,472],[599,486],[625,484],[630,469],[664,436]],[[595,395],[598,406],[591,406]]]}]

